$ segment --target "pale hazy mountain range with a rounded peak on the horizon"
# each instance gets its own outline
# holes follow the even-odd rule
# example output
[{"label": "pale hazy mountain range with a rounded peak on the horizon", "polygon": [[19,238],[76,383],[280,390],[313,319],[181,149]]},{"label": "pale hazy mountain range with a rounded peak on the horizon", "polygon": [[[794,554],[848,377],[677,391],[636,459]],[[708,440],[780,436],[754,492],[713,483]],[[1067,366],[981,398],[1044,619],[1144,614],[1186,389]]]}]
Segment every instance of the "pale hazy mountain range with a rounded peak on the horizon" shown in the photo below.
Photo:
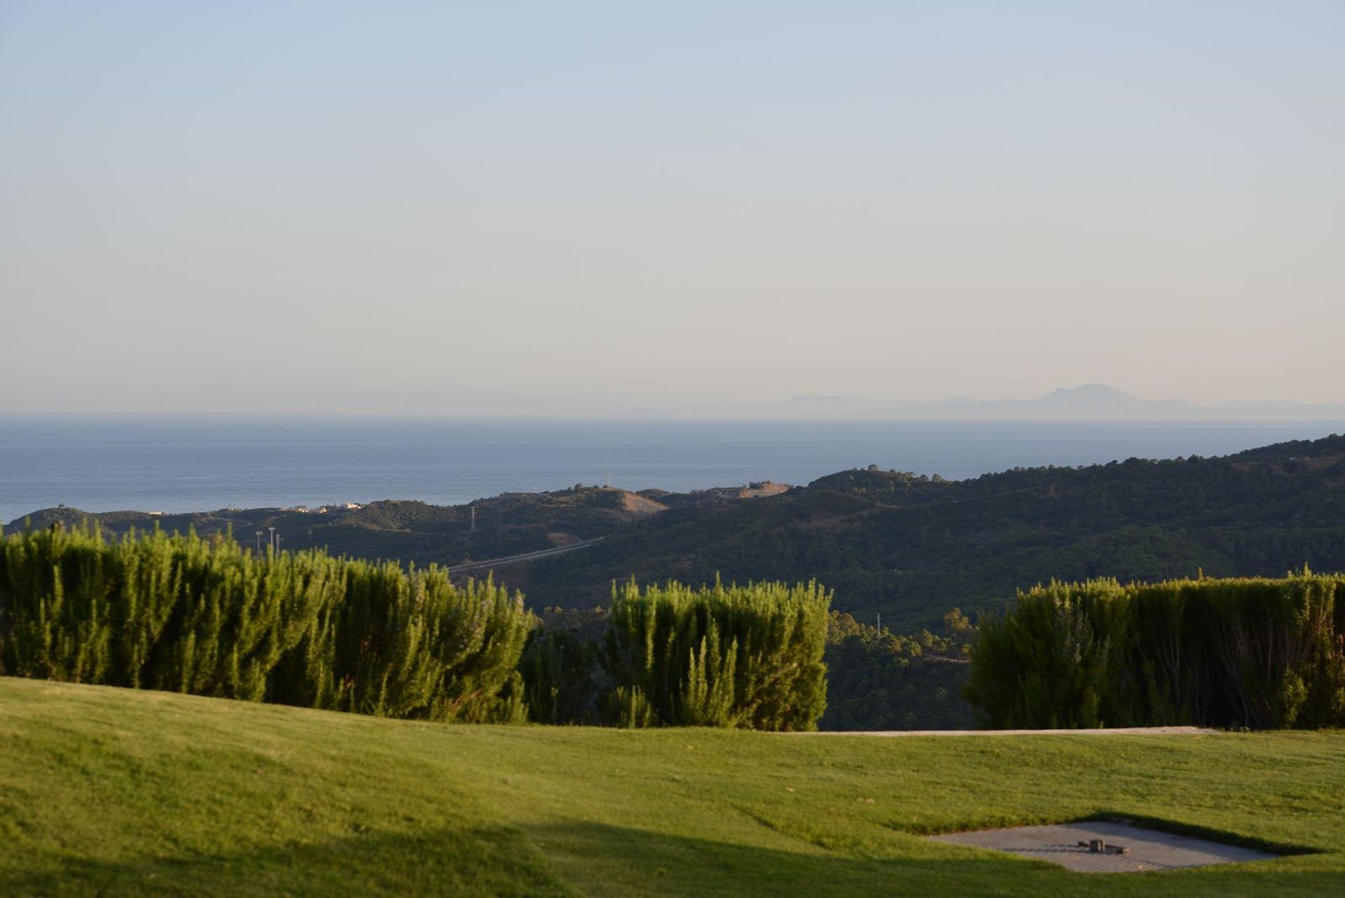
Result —
[{"label": "pale hazy mountain range with a rounded peak on the horizon", "polygon": [[795,397],[741,410],[752,417],[870,421],[1345,421],[1345,402],[1224,402],[1141,399],[1100,383],[1061,387],[1040,399],[865,399]]}]

